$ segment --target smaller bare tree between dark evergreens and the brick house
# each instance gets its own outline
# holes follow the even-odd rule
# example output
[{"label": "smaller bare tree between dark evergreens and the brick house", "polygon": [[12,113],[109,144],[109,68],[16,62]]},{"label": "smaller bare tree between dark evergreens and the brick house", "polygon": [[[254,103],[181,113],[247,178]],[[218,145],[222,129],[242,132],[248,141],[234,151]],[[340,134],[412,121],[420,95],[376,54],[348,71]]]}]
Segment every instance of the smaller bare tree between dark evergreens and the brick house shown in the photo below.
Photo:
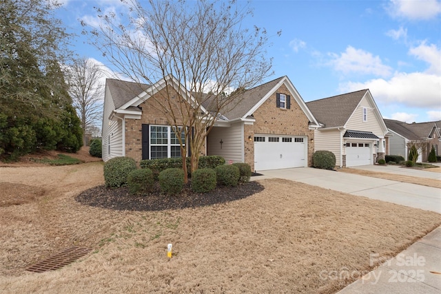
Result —
[{"label": "smaller bare tree between dark evergreens and the brick house", "polygon": [[76,59],[68,70],[69,94],[81,120],[83,145],[91,128],[101,121],[103,107],[103,72],[91,59]]}]

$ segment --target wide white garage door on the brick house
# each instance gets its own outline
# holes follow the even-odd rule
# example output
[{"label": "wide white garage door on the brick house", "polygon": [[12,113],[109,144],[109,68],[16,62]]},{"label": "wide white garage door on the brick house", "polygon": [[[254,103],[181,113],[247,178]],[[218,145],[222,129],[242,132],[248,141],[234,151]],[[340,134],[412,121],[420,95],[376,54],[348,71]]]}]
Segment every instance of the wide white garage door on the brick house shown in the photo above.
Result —
[{"label": "wide white garage door on the brick house", "polygon": [[254,169],[307,166],[307,137],[254,135]]}]

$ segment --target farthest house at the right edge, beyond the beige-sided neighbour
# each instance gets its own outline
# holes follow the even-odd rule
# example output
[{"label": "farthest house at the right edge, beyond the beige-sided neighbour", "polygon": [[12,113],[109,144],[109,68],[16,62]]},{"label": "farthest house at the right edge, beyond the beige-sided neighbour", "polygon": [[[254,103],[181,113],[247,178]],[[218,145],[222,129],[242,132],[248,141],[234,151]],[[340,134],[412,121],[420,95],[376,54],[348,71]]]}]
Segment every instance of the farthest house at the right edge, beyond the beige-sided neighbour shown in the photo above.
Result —
[{"label": "farthest house at the right edge, beyond the beige-sided neighbour", "polygon": [[388,155],[400,155],[405,160],[409,157],[409,147],[416,145],[418,162],[427,161],[432,146],[435,154],[441,150],[441,120],[425,123],[404,123],[399,120],[384,119],[390,135],[387,137]]}]

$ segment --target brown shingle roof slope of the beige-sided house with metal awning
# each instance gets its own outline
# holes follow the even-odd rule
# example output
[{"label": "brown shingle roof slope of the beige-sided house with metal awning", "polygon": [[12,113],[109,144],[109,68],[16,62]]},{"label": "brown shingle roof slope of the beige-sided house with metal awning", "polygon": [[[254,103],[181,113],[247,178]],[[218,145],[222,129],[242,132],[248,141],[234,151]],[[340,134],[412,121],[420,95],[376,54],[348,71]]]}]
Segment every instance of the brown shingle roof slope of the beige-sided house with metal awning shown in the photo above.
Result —
[{"label": "brown shingle roof slope of the beige-sided house with metal awning", "polygon": [[360,90],[347,94],[322,98],[316,101],[307,102],[319,123],[325,127],[341,127],[347,123],[351,114],[365,96],[368,90]]}]

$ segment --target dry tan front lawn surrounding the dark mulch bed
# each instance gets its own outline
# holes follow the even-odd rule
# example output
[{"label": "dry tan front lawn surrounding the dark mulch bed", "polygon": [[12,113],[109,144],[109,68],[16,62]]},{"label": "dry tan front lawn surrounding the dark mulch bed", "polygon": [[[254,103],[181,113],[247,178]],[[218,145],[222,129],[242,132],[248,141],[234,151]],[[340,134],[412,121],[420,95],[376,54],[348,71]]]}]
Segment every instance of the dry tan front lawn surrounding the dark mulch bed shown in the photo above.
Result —
[{"label": "dry tan front lawn surrounding the dark mulch bed", "polygon": [[[0,206],[0,292],[335,293],[371,269],[371,253],[396,255],[441,224],[438,213],[260,183],[264,191],[212,207],[113,211],[74,200],[103,184],[102,162],[0,167],[0,200],[9,201]],[[94,251],[57,271],[25,271],[72,245]]]}]

